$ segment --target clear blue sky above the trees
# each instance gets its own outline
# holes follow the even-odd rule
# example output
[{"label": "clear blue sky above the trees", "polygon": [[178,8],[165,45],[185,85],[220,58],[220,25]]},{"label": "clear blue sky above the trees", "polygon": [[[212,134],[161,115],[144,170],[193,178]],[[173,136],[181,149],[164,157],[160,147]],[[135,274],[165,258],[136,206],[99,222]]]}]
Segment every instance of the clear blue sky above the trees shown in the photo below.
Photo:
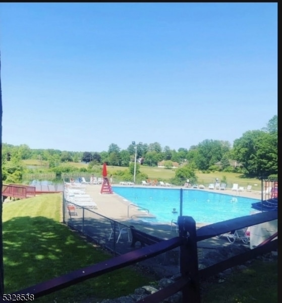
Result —
[{"label": "clear blue sky above the trees", "polygon": [[3,142],[231,143],[277,114],[277,3],[1,3]]}]

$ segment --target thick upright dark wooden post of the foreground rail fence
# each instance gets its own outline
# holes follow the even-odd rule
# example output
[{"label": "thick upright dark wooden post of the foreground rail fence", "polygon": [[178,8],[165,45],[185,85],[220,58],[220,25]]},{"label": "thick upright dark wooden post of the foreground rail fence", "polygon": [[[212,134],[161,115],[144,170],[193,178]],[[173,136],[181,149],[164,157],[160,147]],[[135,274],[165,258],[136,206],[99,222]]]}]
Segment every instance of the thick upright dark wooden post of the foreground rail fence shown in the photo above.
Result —
[{"label": "thick upright dark wooden post of the foreground rail fence", "polygon": [[183,278],[190,278],[190,283],[182,290],[183,303],[200,303],[196,222],[192,217],[180,216],[178,225],[179,235],[187,238],[180,246],[180,272]]}]

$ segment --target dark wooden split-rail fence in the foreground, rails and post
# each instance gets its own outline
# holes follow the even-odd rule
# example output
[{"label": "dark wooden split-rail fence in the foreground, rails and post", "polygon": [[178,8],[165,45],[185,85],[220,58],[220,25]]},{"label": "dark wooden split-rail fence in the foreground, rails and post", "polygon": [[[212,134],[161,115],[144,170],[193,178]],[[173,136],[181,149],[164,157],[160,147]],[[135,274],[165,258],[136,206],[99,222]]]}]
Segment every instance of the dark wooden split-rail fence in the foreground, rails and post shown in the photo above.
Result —
[{"label": "dark wooden split-rail fence in the foreground, rails and post", "polygon": [[275,219],[277,219],[277,211],[269,211],[207,225],[196,231],[196,222],[194,219],[192,217],[181,216],[178,218],[178,237],[145,246],[107,261],[19,290],[14,294],[30,293],[34,294],[35,298],[37,298],[87,279],[136,264],[180,246],[180,279],[170,286],[139,300],[137,303],[159,302],[178,291],[182,291],[183,302],[200,303],[200,279],[215,275],[225,269],[245,263],[259,255],[277,249],[277,239],[273,239],[277,234],[271,236],[256,248],[202,270],[198,269],[197,242],[230,232],[234,229],[241,229]]}]

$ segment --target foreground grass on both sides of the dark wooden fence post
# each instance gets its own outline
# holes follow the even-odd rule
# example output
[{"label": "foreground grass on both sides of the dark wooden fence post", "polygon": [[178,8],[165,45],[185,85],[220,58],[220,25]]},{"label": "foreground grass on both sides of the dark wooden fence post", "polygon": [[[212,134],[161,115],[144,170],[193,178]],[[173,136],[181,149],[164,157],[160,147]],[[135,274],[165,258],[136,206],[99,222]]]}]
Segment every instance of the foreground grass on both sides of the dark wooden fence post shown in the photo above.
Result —
[{"label": "foreground grass on both sides of the dark wooden fence post", "polygon": [[[61,223],[61,194],[46,194],[3,204],[5,293],[111,259]],[[85,303],[134,293],[151,277],[134,267],[93,278],[36,302]],[[256,260],[223,283],[202,285],[202,303],[277,302],[277,261]]]}]

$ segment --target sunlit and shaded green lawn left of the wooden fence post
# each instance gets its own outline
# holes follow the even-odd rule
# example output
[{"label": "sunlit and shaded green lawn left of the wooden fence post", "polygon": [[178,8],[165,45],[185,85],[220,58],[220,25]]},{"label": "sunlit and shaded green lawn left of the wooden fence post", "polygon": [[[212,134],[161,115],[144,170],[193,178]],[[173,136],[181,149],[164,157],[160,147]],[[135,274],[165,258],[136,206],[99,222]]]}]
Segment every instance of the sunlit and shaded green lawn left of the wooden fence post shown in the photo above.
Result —
[{"label": "sunlit and shaded green lawn left of the wooden fence post", "polygon": [[[64,275],[112,258],[60,223],[61,194],[10,201],[3,205],[5,293]],[[147,285],[150,278],[133,267],[93,278],[37,302],[84,302],[86,298],[114,298]]]}]

